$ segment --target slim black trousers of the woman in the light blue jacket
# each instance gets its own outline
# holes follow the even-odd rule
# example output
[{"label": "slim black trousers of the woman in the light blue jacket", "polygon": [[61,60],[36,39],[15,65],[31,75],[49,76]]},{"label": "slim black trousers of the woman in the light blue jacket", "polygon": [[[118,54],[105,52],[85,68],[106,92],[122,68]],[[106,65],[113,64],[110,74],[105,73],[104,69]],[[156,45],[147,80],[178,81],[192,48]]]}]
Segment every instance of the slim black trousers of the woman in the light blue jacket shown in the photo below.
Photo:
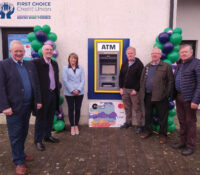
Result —
[{"label": "slim black trousers of the woman in the light blue jacket", "polygon": [[[65,96],[68,104],[68,116],[71,126],[78,126],[80,120],[81,105],[83,101],[83,95],[77,96]],[[75,109],[75,115],[74,115]]]}]

